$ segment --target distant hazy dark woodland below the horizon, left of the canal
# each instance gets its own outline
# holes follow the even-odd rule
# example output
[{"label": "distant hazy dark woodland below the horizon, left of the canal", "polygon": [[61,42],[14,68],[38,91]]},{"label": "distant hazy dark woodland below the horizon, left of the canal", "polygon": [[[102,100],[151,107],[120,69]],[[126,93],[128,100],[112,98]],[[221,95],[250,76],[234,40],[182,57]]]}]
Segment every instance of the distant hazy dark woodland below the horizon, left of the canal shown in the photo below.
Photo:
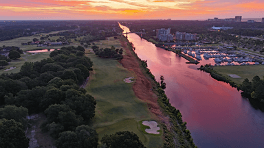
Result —
[{"label": "distant hazy dark woodland below the horizon, left of the canal", "polygon": [[83,38],[81,42],[91,42],[104,40],[106,37],[122,32],[117,21],[17,21],[1,22],[0,26],[0,40],[32,36],[32,32],[41,34],[58,30],[72,30],[50,34],[50,36],[65,36],[68,39],[89,35],[91,38]]}]

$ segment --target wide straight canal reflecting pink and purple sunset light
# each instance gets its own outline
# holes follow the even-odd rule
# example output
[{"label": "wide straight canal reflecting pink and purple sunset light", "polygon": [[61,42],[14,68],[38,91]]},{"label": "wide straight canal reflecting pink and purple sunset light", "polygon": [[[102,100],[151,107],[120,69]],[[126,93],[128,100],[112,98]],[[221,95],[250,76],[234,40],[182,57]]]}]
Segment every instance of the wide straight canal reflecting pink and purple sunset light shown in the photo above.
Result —
[{"label": "wide straight canal reflecting pink and purple sunset light", "polygon": [[[120,25],[124,32],[129,28]],[[198,147],[264,147],[264,112],[252,107],[236,88],[198,71],[175,53],[155,47],[136,34],[128,34],[135,53],[147,60],[159,80],[164,75],[165,93],[179,109]]]}]

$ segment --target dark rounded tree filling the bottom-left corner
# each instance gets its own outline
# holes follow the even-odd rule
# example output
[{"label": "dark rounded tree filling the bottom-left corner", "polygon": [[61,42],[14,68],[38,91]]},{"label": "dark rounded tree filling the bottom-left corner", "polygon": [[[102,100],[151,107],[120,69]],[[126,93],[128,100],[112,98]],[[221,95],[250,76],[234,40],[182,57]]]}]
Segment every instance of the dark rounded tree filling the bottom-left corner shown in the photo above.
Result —
[{"label": "dark rounded tree filling the bottom-left corner", "polygon": [[23,125],[14,120],[0,120],[1,147],[28,148],[30,139],[25,136]]}]

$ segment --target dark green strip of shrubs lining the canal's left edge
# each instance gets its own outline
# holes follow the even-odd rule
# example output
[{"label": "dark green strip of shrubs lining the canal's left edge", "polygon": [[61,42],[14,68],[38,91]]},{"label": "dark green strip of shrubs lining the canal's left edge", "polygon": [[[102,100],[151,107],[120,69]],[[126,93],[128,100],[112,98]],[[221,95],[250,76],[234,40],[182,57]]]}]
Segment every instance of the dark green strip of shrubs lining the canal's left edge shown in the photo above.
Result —
[{"label": "dark green strip of shrubs lining the canal's left edge", "polygon": [[[128,40],[126,40],[129,42]],[[129,49],[133,51],[133,46],[128,44]],[[182,115],[179,110],[175,107],[171,106],[169,99],[166,97],[165,92],[162,88],[166,88],[166,84],[162,84],[164,81],[164,77],[160,77],[161,84],[159,84],[155,76],[151,73],[151,71],[147,68],[147,63],[144,60],[140,60],[137,57],[135,52],[132,52],[135,58],[141,63],[141,67],[144,72],[150,77],[153,81],[153,90],[157,94],[159,106],[162,108],[164,114],[170,117],[170,123],[172,126],[168,129],[168,127],[162,123],[162,129],[164,131],[164,143],[162,147],[197,147],[195,143],[193,143],[192,136],[190,135],[190,131],[186,128],[186,122],[182,120]]]}]

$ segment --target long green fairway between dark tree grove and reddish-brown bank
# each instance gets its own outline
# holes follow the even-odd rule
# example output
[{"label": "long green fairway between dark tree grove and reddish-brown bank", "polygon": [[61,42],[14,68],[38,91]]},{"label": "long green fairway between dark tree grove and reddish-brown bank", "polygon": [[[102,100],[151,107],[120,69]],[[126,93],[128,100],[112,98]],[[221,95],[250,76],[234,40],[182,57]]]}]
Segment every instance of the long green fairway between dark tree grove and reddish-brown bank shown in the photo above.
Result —
[{"label": "long green fairway between dark tree grove and reddish-brown bank", "polygon": [[140,121],[151,119],[146,103],[135,97],[133,83],[123,82],[124,78],[135,77],[135,74],[124,69],[117,60],[98,58],[94,54],[87,56],[94,62],[86,90],[96,98],[93,127],[99,138],[104,134],[128,130],[137,134],[146,147],[161,147],[162,136],[144,134],[140,128]]}]

